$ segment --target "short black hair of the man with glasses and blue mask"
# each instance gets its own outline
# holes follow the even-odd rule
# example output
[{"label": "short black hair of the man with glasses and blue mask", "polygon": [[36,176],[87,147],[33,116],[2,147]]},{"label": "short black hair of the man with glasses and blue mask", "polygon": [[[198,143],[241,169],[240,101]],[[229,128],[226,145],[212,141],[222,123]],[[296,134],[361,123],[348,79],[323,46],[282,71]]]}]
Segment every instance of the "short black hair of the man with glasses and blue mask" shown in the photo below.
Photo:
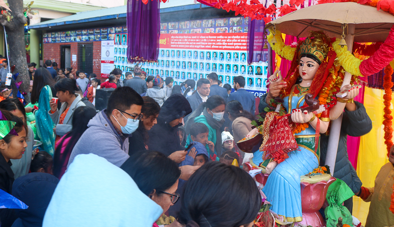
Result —
[{"label": "short black hair of the man with glasses and blue mask", "polygon": [[119,87],[108,98],[107,114],[110,116],[114,109],[126,111],[131,105],[144,104],[142,97],[131,87]]}]

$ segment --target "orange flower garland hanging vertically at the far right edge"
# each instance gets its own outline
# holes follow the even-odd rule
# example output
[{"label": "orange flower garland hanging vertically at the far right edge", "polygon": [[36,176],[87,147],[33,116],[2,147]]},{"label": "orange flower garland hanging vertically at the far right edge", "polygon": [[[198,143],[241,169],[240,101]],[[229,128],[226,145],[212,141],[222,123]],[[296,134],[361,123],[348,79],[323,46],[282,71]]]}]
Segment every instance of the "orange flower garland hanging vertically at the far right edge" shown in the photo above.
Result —
[{"label": "orange flower garland hanging vertically at the far right edge", "polygon": [[390,65],[387,65],[385,68],[385,76],[383,77],[383,88],[385,89],[385,95],[383,96],[383,104],[384,104],[384,115],[383,115],[383,125],[385,131],[385,144],[387,147],[387,157],[390,154],[390,148],[393,146],[393,116],[391,115],[390,105],[392,100],[393,91],[391,88],[393,87],[392,80],[393,68]]}]

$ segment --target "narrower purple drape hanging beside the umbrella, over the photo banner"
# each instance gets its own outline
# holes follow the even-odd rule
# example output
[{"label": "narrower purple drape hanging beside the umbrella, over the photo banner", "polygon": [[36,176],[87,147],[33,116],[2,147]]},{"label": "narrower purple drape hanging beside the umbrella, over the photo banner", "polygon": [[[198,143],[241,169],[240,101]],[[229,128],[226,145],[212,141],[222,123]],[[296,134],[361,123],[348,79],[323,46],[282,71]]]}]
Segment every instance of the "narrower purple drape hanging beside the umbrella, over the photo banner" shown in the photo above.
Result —
[{"label": "narrower purple drape hanging beside the umbrella, over the photo banner", "polygon": [[[246,50],[248,54],[248,64],[252,62],[265,62],[268,60],[268,49],[263,49],[265,36],[265,24],[263,20],[251,20],[248,23],[248,39]],[[267,45],[269,45],[267,43]]]}]

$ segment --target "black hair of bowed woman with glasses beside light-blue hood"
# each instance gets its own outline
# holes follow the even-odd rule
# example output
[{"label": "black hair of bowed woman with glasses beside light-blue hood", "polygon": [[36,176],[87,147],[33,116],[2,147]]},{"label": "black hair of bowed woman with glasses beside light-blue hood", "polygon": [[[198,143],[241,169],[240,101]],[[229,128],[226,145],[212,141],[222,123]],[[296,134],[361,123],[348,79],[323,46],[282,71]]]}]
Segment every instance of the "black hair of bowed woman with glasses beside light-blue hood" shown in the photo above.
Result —
[{"label": "black hair of bowed woman with glasses beside light-blue hood", "polygon": [[149,195],[171,188],[181,175],[178,164],[157,151],[136,152],[121,166],[137,184],[139,190]]}]

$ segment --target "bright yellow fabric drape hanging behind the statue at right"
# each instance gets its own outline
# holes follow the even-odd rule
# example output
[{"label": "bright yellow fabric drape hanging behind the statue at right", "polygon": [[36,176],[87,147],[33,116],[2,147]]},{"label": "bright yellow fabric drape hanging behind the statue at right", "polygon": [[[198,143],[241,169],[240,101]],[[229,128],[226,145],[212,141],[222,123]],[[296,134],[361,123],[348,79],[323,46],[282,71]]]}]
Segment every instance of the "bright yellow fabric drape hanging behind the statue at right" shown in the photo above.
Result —
[{"label": "bright yellow fabric drape hanging behind the statue at right", "polygon": [[[383,90],[365,87],[364,106],[369,118],[372,120],[372,130],[361,136],[359,157],[357,161],[357,174],[362,186],[372,188],[380,168],[389,162],[384,141],[383,131]],[[391,109],[393,111],[394,99]],[[369,202],[362,201],[353,196],[353,216],[365,225],[369,210]],[[387,207],[389,209],[389,207]]]}]

